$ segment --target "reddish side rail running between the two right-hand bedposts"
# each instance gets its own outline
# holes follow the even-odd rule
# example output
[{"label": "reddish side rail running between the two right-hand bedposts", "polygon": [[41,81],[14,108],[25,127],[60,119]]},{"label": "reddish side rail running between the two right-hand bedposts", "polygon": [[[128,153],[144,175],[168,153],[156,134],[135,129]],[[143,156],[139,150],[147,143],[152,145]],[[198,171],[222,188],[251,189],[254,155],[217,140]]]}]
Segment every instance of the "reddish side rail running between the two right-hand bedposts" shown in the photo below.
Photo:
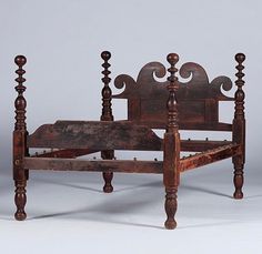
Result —
[{"label": "reddish side rail running between the two right-hand bedposts", "polygon": [[183,172],[203,166],[212,162],[231,158],[232,155],[236,155],[239,153],[241,153],[241,148],[239,144],[223,145],[218,149],[180,160],[180,171]]}]

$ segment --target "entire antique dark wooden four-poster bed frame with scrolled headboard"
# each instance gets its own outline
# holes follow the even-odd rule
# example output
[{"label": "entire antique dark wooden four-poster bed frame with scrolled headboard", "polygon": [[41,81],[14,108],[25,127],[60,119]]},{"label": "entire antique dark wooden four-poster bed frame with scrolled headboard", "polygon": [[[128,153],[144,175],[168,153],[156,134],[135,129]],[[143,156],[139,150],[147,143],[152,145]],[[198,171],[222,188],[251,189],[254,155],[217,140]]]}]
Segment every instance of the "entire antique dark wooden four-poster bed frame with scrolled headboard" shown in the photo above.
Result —
[{"label": "entire antique dark wooden four-poster bed frame with scrolled headboard", "polygon": [[[101,53],[103,59],[102,115],[100,121],[57,121],[44,124],[29,134],[26,125],[27,101],[23,96],[26,79],[23,65],[26,57],[18,55],[16,90],[16,124],[13,131],[13,180],[16,184],[14,202],[18,221],[27,217],[26,185],[29,170],[92,171],[102,172],[103,191],[113,191],[111,184],[113,172],[159,173],[163,174],[165,186],[165,227],[177,226],[177,192],[180,173],[223,159],[232,158],[234,165],[234,199],[242,199],[243,165],[245,150],[244,119],[244,73],[243,53],[238,53],[236,91],[234,98],[221,92],[229,91],[232,82],[228,77],[218,77],[209,82],[204,69],[193,62],[184,63],[179,74],[190,78],[189,82],[178,80],[175,68],[179,55],[170,53],[167,58],[170,67],[169,78],[164,82],[165,67],[159,62],[145,64],[137,81],[130,75],[121,74],[114,80],[120,94],[112,95],[110,84],[109,59],[111,53]],[[111,100],[128,100],[128,120],[114,121]],[[219,122],[219,101],[234,101],[234,118],[231,123]],[[163,139],[152,129],[164,129]],[[226,131],[232,132],[232,141],[181,140],[179,130]],[[29,149],[51,149],[50,152],[30,155]],[[115,160],[114,150],[163,151],[163,161]],[[103,160],[77,159],[81,155],[101,151]],[[196,152],[194,155],[180,158],[181,151]]]}]

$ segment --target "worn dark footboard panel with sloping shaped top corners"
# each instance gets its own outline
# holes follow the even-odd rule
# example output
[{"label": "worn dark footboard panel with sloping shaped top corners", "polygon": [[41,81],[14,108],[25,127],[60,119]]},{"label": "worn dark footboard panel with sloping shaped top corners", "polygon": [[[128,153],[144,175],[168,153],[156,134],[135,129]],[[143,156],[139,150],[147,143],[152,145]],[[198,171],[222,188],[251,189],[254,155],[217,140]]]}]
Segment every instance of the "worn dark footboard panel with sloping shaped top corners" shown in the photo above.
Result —
[{"label": "worn dark footboard panel with sloping shaped top corners", "polygon": [[147,125],[128,121],[58,121],[28,136],[29,148],[161,150],[162,140]]}]

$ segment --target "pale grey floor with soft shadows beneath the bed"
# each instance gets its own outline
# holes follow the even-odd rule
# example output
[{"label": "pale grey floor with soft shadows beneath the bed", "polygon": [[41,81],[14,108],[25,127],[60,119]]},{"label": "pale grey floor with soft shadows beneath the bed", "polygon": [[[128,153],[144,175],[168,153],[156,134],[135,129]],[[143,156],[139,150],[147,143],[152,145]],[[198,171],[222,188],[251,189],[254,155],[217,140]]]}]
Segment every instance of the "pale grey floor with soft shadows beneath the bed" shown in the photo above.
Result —
[{"label": "pale grey floor with soft shadows beneath the bed", "polygon": [[224,161],[184,173],[178,228],[163,228],[161,175],[115,174],[101,192],[97,173],[32,172],[28,220],[13,220],[11,175],[0,175],[1,253],[238,253],[262,250],[261,173],[246,171],[245,197],[231,197]]}]

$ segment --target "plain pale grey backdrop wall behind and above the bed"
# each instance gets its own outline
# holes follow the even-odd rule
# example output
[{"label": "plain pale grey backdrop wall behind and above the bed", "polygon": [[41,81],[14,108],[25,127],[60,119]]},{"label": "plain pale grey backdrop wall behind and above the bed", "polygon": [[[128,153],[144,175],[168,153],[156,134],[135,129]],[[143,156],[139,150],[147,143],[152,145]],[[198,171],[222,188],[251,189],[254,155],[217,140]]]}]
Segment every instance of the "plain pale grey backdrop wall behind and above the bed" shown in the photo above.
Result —
[{"label": "plain pale grey backdrop wall behind and above the bed", "polygon": [[[1,172],[11,173],[17,54],[28,58],[31,132],[57,119],[100,118],[102,50],[112,52],[112,78],[135,77],[144,63],[167,63],[165,55],[177,52],[179,65],[198,62],[210,80],[220,74],[234,80],[234,54],[244,52],[250,177],[262,163],[261,13],[260,0],[0,0]],[[125,114],[115,103],[117,119]],[[222,115],[231,119],[232,110],[223,108]]]}]

